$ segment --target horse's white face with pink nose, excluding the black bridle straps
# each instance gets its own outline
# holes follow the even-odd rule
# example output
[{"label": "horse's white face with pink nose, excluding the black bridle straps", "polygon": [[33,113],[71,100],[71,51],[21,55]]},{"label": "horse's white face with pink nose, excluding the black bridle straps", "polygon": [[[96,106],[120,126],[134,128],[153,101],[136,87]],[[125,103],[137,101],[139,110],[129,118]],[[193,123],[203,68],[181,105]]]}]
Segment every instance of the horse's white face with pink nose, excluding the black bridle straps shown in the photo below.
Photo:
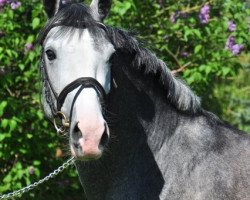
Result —
[{"label": "horse's white face with pink nose, excluding the black bridle straps", "polygon": [[[96,79],[109,93],[111,69],[109,58],[113,45],[104,37],[95,39],[87,29],[58,36],[60,27],[53,28],[44,42],[44,58],[51,85],[59,94],[65,86],[81,77]],[[62,112],[69,117],[73,98],[79,88],[68,94]],[[44,102],[45,112],[50,108]],[[70,125],[70,148],[75,157],[97,159],[103,151],[101,144],[108,131],[102,107],[93,88],[85,88],[78,96]]]}]

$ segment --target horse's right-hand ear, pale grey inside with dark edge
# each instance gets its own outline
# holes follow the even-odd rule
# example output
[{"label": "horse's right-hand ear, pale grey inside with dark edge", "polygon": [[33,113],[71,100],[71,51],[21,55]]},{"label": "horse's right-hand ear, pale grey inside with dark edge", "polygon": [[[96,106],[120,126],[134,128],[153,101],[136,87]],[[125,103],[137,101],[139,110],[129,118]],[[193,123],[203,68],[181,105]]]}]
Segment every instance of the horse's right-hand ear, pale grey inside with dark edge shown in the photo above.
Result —
[{"label": "horse's right-hand ear, pale grey inside with dark edge", "polygon": [[90,8],[93,11],[93,17],[97,21],[103,21],[111,8],[112,0],[93,0]]}]

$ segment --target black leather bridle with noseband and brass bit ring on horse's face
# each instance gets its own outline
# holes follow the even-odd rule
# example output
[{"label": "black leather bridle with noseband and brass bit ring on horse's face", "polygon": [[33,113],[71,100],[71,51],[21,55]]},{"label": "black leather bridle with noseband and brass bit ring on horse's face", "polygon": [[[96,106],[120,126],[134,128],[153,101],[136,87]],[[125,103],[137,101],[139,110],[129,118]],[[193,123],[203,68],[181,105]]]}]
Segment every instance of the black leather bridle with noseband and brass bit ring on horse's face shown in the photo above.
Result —
[{"label": "black leather bridle with noseband and brass bit ring on horse's face", "polygon": [[[97,22],[97,25],[106,31],[106,26],[104,24]],[[60,26],[60,25],[57,24],[56,26]],[[55,26],[53,26],[53,27],[55,27]],[[43,42],[44,42],[44,40],[42,40],[41,45],[43,45]],[[43,55],[43,50],[42,50],[42,55]],[[54,118],[53,123],[54,123],[54,126],[55,126],[58,134],[64,134],[66,132],[66,130],[68,129],[68,127],[70,126],[74,104],[84,88],[93,88],[97,92],[100,103],[102,105],[102,112],[104,111],[103,108],[104,108],[104,104],[105,104],[107,95],[106,95],[106,92],[105,92],[104,88],[102,87],[102,85],[96,79],[94,79],[92,77],[78,78],[75,81],[69,83],[58,95],[56,93],[54,87],[51,84],[43,56],[41,57],[41,60],[42,60],[41,73],[42,73],[42,80],[43,80],[44,87],[45,87],[45,99],[46,99],[46,102],[48,103],[50,110],[51,110],[51,113],[53,115],[53,118]],[[74,99],[72,101],[72,104],[71,104],[70,115],[69,115],[69,119],[68,119],[66,117],[66,115],[61,111],[61,108],[64,104],[65,99],[67,98],[67,95],[70,92],[72,92],[73,90],[77,89],[78,87],[79,87],[79,89],[77,90],[77,92],[74,96]],[[53,93],[53,96],[56,100],[56,106],[53,102],[53,97],[52,97],[51,92]],[[103,112],[103,114],[104,114],[104,112]],[[60,127],[57,125],[56,118],[60,118],[62,120],[62,125]]]}]

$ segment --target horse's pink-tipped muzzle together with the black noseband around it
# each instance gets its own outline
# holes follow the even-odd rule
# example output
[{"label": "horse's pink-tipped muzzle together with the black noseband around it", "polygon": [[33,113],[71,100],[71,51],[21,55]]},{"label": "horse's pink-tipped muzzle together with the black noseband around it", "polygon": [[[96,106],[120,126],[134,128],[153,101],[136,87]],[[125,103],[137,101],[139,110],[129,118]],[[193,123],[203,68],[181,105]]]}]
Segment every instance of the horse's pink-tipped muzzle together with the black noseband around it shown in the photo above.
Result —
[{"label": "horse's pink-tipped muzzle together with the black noseband around it", "polygon": [[[96,79],[91,77],[79,78],[68,84],[59,94],[56,110],[62,109],[68,94],[75,89],[77,89],[77,91],[71,102],[69,120],[63,112],[57,111],[57,117],[59,117],[63,123],[62,126],[59,127],[54,120],[54,125],[58,133],[64,133],[65,130],[69,128],[70,149],[75,158],[81,160],[96,160],[101,157],[109,140],[109,128],[104,120],[106,93]],[[96,102],[94,107],[98,108],[101,105],[99,115],[89,111],[88,106],[77,106],[77,102],[88,101],[85,99],[86,89],[91,90],[92,100]],[[76,113],[74,113],[73,110]]]}]

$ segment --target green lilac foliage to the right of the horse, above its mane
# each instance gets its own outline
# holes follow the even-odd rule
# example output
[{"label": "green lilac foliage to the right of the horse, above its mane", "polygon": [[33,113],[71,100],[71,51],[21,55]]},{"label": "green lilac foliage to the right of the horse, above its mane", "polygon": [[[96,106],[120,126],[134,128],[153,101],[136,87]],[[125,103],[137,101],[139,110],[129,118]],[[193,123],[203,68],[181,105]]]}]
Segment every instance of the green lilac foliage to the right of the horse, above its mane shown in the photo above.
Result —
[{"label": "green lilac foliage to the right of the horse, above its mane", "polygon": [[[250,9],[247,1],[170,0],[166,1],[165,6],[160,6],[150,0],[128,0],[126,4],[115,0],[114,4],[116,6],[107,20],[108,24],[136,30],[141,41],[163,59],[173,73],[182,77],[196,91],[206,109],[233,122],[243,130],[249,130],[249,118],[240,121],[236,119],[236,115],[230,117],[226,114],[226,107],[232,102],[225,101],[221,95],[217,98],[217,92],[214,91],[224,80],[231,91],[231,96],[227,98],[232,99],[238,94],[239,88],[235,87],[235,79],[239,71],[246,71],[250,67],[249,60],[245,65],[242,62],[250,57],[247,17]],[[202,24],[199,14],[205,5],[210,6],[210,19]],[[229,31],[229,21],[236,24],[235,31]],[[230,49],[225,48],[229,36],[235,38],[236,44],[244,45],[241,54],[234,55]],[[247,78],[247,74],[243,73],[243,76]],[[249,91],[249,87],[247,89]],[[244,114],[241,115],[250,114],[246,104],[241,101],[234,103],[237,112],[244,110]]]}]

